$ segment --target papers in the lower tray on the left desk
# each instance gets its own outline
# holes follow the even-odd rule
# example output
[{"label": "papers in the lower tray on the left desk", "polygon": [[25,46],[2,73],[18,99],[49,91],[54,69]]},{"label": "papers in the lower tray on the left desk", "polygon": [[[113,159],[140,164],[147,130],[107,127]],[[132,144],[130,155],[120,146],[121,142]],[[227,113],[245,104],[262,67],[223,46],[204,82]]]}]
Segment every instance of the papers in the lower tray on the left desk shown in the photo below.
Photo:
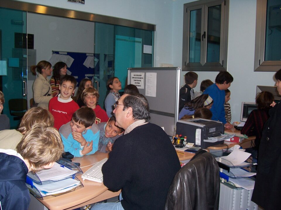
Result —
[{"label": "papers in the lower tray on the left desk", "polygon": [[66,192],[68,190],[76,188],[79,185],[81,185],[81,182],[73,178],[67,178],[61,181],[56,181],[44,185],[38,185],[34,183],[34,186],[37,188],[37,190],[40,191],[42,196],[54,195],[61,192]]}]

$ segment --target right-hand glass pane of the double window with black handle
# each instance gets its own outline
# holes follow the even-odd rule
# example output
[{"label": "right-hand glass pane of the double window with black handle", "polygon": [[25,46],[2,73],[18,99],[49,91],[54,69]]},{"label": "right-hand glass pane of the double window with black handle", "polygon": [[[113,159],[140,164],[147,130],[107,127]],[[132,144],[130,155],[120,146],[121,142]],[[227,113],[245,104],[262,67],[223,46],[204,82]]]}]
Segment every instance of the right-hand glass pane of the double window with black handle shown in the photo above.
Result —
[{"label": "right-hand glass pane of the double window with black handle", "polygon": [[208,7],[207,61],[220,62],[221,5]]}]

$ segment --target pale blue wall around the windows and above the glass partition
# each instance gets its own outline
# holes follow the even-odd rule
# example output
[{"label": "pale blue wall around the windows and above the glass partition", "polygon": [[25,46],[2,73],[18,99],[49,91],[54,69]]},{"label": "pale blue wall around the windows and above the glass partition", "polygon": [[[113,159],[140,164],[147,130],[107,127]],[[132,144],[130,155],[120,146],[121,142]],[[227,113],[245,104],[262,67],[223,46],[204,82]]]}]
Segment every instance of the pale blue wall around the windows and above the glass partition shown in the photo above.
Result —
[{"label": "pale blue wall around the windows and above the glass partition", "polygon": [[[181,67],[183,4],[189,0],[86,0],[85,5],[57,0],[25,0],[72,10],[109,15],[156,24],[154,66],[170,63]],[[242,24],[243,23],[243,24]],[[234,77],[231,90],[232,121],[239,121],[242,101],[255,101],[256,85],[274,85],[274,72],[254,72],[256,0],[230,0],[227,69]],[[183,75],[186,72],[182,72]],[[215,80],[217,72],[197,72],[199,84]],[[181,84],[183,85],[183,79]]]}]

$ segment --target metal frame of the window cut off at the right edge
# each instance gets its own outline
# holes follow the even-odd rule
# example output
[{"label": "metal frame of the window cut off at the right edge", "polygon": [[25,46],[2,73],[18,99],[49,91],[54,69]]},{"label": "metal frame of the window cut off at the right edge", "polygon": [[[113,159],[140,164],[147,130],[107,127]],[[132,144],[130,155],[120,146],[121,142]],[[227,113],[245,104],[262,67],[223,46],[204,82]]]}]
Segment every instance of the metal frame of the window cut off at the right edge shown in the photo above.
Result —
[{"label": "metal frame of the window cut off at the right edge", "polygon": [[257,0],[254,71],[278,71],[281,61],[265,61],[267,0]]}]

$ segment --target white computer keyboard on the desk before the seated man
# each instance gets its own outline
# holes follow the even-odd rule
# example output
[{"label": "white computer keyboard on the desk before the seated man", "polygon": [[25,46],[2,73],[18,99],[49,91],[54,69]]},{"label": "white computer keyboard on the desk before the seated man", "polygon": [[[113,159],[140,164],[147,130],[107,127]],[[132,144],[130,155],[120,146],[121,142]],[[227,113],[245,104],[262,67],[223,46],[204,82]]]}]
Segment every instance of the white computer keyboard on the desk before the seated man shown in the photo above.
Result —
[{"label": "white computer keyboard on the desk before the seated man", "polygon": [[108,158],[104,158],[100,162],[95,163],[92,167],[90,167],[87,171],[82,174],[83,180],[88,179],[95,182],[102,183],[102,165],[107,161]]}]

